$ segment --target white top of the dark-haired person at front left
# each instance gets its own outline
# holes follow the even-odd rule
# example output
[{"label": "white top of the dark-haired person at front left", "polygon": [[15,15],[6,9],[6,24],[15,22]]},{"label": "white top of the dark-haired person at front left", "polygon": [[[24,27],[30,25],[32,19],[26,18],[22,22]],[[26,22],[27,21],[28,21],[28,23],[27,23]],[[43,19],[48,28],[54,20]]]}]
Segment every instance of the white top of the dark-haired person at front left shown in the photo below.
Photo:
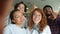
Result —
[{"label": "white top of the dark-haired person at front left", "polygon": [[26,34],[25,28],[20,28],[15,24],[10,24],[4,28],[3,34]]}]

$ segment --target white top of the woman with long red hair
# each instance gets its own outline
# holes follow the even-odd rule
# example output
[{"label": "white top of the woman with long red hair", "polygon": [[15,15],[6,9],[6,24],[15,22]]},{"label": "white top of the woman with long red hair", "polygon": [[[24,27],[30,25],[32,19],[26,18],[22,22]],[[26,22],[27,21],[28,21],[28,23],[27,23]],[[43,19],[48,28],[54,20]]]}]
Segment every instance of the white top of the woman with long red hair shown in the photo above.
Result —
[{"label": "white top of the woman with long red hair", "polygon": [[31,31],[27,28],[27,33],[28,34],[51,34],[51,30],[50,27],[48,25],[46,25],[46,27],[43,29],[43,32],[38,32],[34,29],[32,29]]}]

